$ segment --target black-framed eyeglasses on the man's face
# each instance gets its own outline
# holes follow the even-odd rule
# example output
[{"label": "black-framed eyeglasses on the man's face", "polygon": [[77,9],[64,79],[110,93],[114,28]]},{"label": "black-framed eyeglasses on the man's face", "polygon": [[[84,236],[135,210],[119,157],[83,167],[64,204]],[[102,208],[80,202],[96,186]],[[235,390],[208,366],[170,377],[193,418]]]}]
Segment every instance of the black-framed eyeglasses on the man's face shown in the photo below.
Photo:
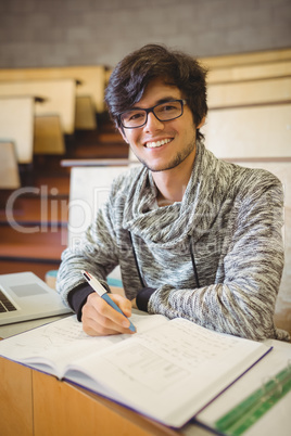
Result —
[{"label": "black-framed eyeglasses on the man's face", "polygon": [[186,100],[170,100],[148,108],[131,108],[123,112],[118,118],[125,129],[137,129],[148,121],[148,114],[152,112],[159,121],[170,121],[179,118],[184,113]]}]

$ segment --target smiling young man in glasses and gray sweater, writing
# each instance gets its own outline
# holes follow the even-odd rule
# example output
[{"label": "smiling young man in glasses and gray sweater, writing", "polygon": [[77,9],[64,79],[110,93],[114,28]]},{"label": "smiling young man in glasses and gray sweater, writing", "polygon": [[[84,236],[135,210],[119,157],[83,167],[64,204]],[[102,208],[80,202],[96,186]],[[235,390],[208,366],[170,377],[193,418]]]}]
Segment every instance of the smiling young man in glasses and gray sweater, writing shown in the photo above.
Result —
[{"label": "smiling young man in glasses and gray sweater, writing", "polygon": [[111,297],[126,316],[138,307],[288,339],[273,321],[283,267],[281,184],[204,148],[205,76],[192,57],[156,44],[126,56],[111,76],[109,112],[143,165],[116,179],[78,249],[63,253],[58,290],[90,335],[130,333],[80,272],[106,286],[119,265],[126,298]]}]

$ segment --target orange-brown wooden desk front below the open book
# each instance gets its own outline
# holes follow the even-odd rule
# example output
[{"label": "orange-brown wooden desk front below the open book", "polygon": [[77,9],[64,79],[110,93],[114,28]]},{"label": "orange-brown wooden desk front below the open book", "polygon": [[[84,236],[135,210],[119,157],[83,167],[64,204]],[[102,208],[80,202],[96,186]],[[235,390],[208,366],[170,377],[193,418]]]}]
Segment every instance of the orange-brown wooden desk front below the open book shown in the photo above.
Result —
[{"label": "orange-brown wooden desk front below the open book", "polygon": [[[0,377],[1,435],[186,434],[150,421],[88,390],[3,358],[0,358]],[[210,434],[193,425],[191,428],[193,436]]]}]

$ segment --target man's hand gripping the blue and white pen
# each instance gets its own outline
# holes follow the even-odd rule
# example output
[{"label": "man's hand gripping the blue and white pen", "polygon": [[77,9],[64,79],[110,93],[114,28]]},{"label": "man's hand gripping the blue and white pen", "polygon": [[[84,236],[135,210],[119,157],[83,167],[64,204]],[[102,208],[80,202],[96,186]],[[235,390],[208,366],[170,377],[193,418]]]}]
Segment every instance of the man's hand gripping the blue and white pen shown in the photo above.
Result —
[{"label": "man's hand gripping the blue and white pen", "polygon": [[[126,317],[131,316],[131,303],[129,299],[118,294],[110,294],[110,297]],[[90,336],[134,333],[129,330],[129,320],[113,309],[96,292],[88,295],[87,302],[81,309],[81,321],[83,330]]]}]

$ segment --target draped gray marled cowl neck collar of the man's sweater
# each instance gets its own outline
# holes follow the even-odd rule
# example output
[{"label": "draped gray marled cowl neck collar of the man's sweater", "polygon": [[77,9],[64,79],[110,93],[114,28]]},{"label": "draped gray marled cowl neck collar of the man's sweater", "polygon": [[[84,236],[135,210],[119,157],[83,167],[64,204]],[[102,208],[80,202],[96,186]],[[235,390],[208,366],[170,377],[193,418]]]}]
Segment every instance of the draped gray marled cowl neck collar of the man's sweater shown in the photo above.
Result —
[{"label": "draped gray marled cowl neck collar of the man's sweater", "polygon": [[231,175],[231,166],[200,143],[182,201],[157,207],[157,189],[151,171],[144,167],[124,193],[127,201],[123,227],[146,243],[164,248],[180,245],[189,235],[195,242],[215,220]]}]

